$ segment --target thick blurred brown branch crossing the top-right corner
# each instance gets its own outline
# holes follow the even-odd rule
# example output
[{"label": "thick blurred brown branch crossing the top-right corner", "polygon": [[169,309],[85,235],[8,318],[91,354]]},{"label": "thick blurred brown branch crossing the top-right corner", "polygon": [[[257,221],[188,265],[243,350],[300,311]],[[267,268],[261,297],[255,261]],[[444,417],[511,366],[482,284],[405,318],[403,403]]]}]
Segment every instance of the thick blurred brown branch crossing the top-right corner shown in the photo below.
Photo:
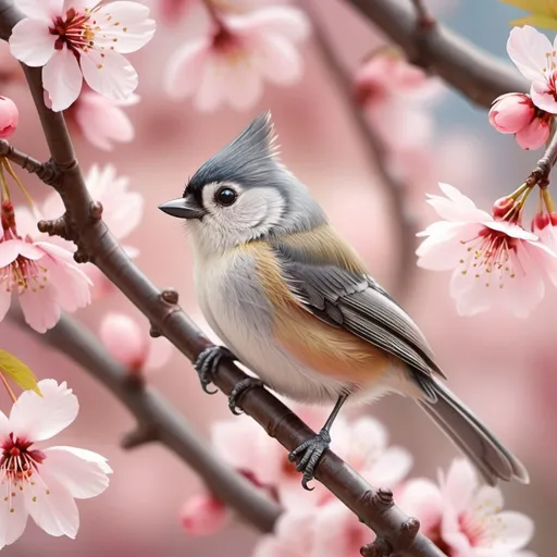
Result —
[{"label": "thick blurred brown branch crossing the top-right corner", "polygon": [[528,92],[530,84],[510,65],[444,25],[417,40],[416,11],[407,0],[346,0],[406,52],[408,60],[442,77],[469,100],[490,107],[505,92]]}]

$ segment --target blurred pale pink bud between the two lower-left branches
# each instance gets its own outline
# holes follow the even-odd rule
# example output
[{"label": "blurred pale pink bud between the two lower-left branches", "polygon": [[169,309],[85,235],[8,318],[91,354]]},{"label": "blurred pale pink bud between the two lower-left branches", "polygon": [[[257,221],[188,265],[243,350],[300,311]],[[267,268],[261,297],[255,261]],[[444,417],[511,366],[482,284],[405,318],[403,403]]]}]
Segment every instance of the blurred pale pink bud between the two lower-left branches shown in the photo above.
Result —
[{"label": "blurred pale pink bud between the two lower-left branches", "polygon": [[149,338],[133,319],[109,313],[102,320],[99,334],[112,358],[129,371],[144,368],[149,354]]}]

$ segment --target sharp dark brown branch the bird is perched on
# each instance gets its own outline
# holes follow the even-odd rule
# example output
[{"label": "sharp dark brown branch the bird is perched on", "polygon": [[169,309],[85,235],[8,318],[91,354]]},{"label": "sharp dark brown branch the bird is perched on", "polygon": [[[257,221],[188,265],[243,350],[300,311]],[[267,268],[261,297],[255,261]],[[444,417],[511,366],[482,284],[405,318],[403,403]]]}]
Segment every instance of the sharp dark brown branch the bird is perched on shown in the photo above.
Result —
[{"label": "sharp dark brown branch the bird is perched on", "polygon": [[[12,1],[0,0],[0,37],[7,38],[11,27],[21,17],[22,15],[15,10]],[[156,288],[132,263],[107,228],[100,218],[99,207],[90,198],[75,160],[63,115],[51,112],[45,107],[41,70],[29,67],[24,67],[24,70],[52,161],[60,171],[60,178],[52,186],[60,194],[66,209],[62,219],[67,223],[67,228],[77,236],[79,248],[77,258],[89,258],[146,315],[156,333],[164,335],[189,360],[195,361],[203,349],[211,346],[211,342],[177,306],[177,296],[173,295],[169,299],[168,295]],[[67,341],[70,331],[64,330],[64,321],[60,326],[65,334],[61,335],[59,346],[63,351],[70,351],[72,349]],[[55,334],[55,330],[50,333],[50,335],[52,334]],[[82,346],[84,352],[88,349],[89,341],[92,343],[94,339],[87,339]],[[75,356],[78,357],[78,355]],[[89,358],[92,359],[95,356],[98,356],[96,350],[88,352]],[[85,360],[79,361],[83,364],[86,363]],[[94,368],[96,369],[96,367]],[[214,375],[214,384],[224,394],[230,395],[233,388],[246,377],[247,375],[238,367],[223,359]],[[98,379],[107,380],[103,376],[98,376]],[[122,389],[117,383],[107,382],[106,384],[111,391],[119,393],[121,399],[124,399],[124,396],[126,399],[127,397],[145,396],[147,393],[145,389],[135,389],[132,393]],[[166,411],[160,401],[154,404],[159,412]],[[248,391],[242,398],[242,406],[247,414],[259,422],[269,435],[275,437],[288,450],[293,450],[302,442],[314,436],[314,432],[265,389]],[[178,420],[174,412],[168,412],[168,419],[171,423]],[[170,432],[166,432],[166,428],[161,428],[159,433],[160,435],[171,435]],[[177,440],[174,442],[176,449],[181,448],[181,442]],[[200,470],[200,468],[197,469]],[[362,522],[375,531],[383,546],[387,544],[389,549],[398,555],[443,556],[443,553],[430,540],[416,533],[414,519],[409,519],[392,504],[391,496],[385,504],[383,492],[371,487],[331,450],[325,451],[322,456],[315,476]],[[222,486],[223,492],[226,492],[227,488],[227,484]],[[230,499],[233,498],[230,497]]]}]

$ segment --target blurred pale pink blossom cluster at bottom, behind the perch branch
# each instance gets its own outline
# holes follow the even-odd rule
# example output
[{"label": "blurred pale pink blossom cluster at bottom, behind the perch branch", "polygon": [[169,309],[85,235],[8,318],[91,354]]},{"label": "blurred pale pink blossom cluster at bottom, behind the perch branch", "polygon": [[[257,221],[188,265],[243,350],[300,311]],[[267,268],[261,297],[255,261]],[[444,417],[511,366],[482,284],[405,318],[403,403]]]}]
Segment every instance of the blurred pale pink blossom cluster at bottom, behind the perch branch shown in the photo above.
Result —
[{"label": "blurred pale pink blossom cluster at bottom, behind the perch branch", "polygon": [[[297,413],[319,428],[325,413],[297,407]],[[438,483],[408,479],[410,454],[389,446],[384,426],[371,417],[337,418],[332,449],[372,485],[389,487],[405,512],[417,517],[422,532],[449,557],[525,557],[521,549],[533,535],[532,521],[503,510],[498,488],[480,485],[472,466],[455,460]],[[253,557],[357,557],[373,541],[358,521],[323,485],[311,493],[299,487],[299,474],[287,454],[253,422],[242,416],[212,430],[216,453],[261,492],[285,509],[273,535],[263,536]],[[213,534],[231,520],[230,511],[210,494],[188,499],[182,524],[190,535]],[[529,554],[533,557],[533,554]]]}]

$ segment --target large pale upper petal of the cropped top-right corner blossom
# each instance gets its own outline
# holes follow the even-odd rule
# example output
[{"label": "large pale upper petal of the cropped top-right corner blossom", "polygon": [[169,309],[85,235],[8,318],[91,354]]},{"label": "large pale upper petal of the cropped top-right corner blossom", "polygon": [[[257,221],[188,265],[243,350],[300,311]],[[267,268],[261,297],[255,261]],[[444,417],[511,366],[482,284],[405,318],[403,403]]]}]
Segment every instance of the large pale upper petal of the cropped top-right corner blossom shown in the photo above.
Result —
[{"label": "large pale upper petal of the cropped top-right corner blossom", "polygon": [[531,82],[545,79],[543,69],[546,54],[553,51],[549,39],[530,25],[512,27],[507,41],[507,52],[519,72]]}]

